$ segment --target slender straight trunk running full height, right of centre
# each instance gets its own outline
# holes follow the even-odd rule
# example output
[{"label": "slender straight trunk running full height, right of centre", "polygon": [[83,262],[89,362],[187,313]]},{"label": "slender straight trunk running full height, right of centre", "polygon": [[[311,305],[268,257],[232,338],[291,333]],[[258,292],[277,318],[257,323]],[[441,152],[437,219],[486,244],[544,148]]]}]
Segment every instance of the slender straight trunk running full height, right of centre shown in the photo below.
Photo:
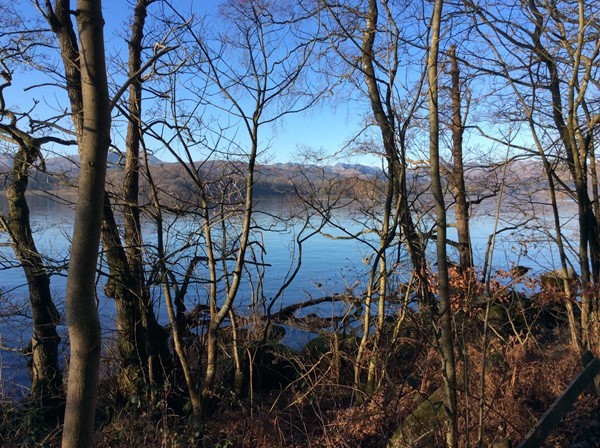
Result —
[{"label": "slender straight trunk running full height, right of centre", "polygon": [[440,176],[440,127],[438,108],[438,52],[443,0],[436,0],[431,20],[431,44],[427,60],[429,80],[429,164],[431,190],[435,202],[437,230],[437,262],[440,301],[440,345],[443,362],[445,404],[449,417],[446,444],[457,446],[456,368],[454,360],[454,333],[450,309],[450,287],[446,255],[446,206]]}]

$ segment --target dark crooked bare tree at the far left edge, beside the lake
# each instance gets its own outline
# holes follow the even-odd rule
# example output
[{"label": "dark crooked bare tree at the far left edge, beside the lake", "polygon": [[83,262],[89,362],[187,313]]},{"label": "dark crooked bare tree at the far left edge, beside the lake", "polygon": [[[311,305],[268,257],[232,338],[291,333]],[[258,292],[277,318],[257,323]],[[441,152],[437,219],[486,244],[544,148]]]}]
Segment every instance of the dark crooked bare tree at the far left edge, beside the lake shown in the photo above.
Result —
[{"label": "dark crooked bare tree at the far left edge, beside the lake", "polygon": [[[29,219],[26,191],[30,170],[38,160],[43,160],[41,148],[44,144],[69,142],[50,136],[37,137],[33,128],[21,129],[19,122],[28,117],[28,112],[16,113],[7,105],[3,91],[12,84],[12,63],[26,62],[36,47],[35,40],[40,32],[16,30],[7,32],[0,64],[0,139],[15,147],[12,155],[12,170],[9,175],[6,197],[8,213],[0,215],[0,228],[12,240],[13,250],[21,264],[29,288],[33,334],[31,339],[31,399],[36,406],[54,411],[63,399],[62,372],[58,361],[60,337],[56,326],[60,315],[50,291],[50,275],[42,254],[38,251]],[[13,37],[10,37],[13,36]],[[41,43],[41,42],[40,42]],[[46,129],[44,126],[40,126]]]}]

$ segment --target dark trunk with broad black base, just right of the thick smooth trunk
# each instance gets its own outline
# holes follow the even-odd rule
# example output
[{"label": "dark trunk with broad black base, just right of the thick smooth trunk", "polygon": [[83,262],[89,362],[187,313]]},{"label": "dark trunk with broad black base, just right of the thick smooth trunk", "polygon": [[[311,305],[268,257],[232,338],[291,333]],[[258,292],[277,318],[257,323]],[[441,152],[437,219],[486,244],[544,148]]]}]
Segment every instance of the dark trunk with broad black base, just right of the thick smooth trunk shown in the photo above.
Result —
[{"label": "dark trunk with broad black base, just right of the thick smooth trunk", "polygon": [[146,287],[139,207],[140,142],[142,121],[142,81],[140,69],[148,0],[138,0],[134,9],[129,40],[128,125],[125,139],[123,182],[124,244],[113,216],[111,201],[105,196],[102,241],[110,277],[105,293],[117,307],[117,346],[122,364],[118,375],[122,397],[139,396],[144,390],[160,389],[173,360],[168,334],[157,322]]}]

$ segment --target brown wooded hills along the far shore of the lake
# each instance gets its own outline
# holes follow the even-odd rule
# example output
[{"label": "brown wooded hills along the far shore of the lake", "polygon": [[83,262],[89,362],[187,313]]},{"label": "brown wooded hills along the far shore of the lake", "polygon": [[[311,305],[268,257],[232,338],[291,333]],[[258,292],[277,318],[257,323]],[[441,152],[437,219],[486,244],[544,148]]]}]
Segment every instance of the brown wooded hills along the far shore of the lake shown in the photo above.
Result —
[{"label": "brown wooded hills along the far shore of the lake", "polygon": [[[196,192],[196,186],[190,179],[186,169],[193,168],[200,173],[203,182],[209,190],[219,194],[224,184],[229,184],[229,192],[241,191],[245,182],[245,164],[240,161],[208,160],[195,162],[193,167],[183,166],[177,162],[164,162],[157,157],[150,156],[148,160],[152,179],[159,189],[174,200],[191,198]],[[0,174],[9,173],[12,165],[9,154],[0,153]],[[38,164],[39,165],[39,164]],[[466,180],[470,194],[474,198],[489,195],[499,185],[504,176],[502,164],[492,166],[467,166]],[[123,184],[125,159],[118,153],[111,152],[108,156],[107,185],[109,190],[120,191]],[[451,176],[450,170],[444,176]],[[79,174],[79,156],[57,156],[45,160],[45,168],[36,166],[31,169],[30,188],[32,190],[57,190],[72,187],[77,182]],[[506,186],[509,193],[531,192],[543,190],[547,182],[541,171],[538,161],[520,160],[511,163],[507,171]],[[381,168],[361,165],[357,163],[336,163],[335,165],[314,165],[299,163],[274,163],[257,165],[255,175],[255,194],[281,195],[302,190],[310,193],[326,186],[330,192],[352,194],[361,191],[364,194],[364,185],[373,180],[382,179]],[[0,179],[0,188],[5,185],[6,175]],[[423,191],[429,185],[429,171],[427,167],[409,169],[407,182],[410,188]],[[226,182],[223,182],[223,181]],[[113,186],[111,188],[111,186]],[[143,194],[147,190],[147,181],[144,176],[140,181]],[[357,190],[359,189],[359,190]]]}]

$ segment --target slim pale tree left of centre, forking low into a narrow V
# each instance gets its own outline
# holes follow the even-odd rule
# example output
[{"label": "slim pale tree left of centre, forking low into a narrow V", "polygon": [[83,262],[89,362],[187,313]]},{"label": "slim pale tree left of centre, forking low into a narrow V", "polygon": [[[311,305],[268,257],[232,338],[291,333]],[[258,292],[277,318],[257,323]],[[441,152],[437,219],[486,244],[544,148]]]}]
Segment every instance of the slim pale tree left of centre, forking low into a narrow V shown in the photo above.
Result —
[{"label": "slim pale tree left of centre, forking low into a narrow V", "polygon": [[[198,107],[208,102],[220,111],[229,111],[239,121],[245,139],[234,153],[225,149],[227,157],[236,160],[231,166],[243,181],[236,185],[232,179],[227,179],[223,182],[227,186],[218,190],[217,194],[210,184],[203,182],[191,158],[184,162],[195,171],[191,176],[198,187],[198,207],[205,239],[203,250],[208,270],[210,318],[205,334],[206,369],[201,391],[203,410],[214,397],[220,328],[224,319],[234,312],[235,300],[248,272],[249,247],[255,238],[256,164],[264,149],[259,138],[260,130],[265,124],[277,123],[286,115],[308,109],[318,99],[318,95],[312,93],[313,86],[303,82],[303,73],[308,68],[316,39],[305,39],[302,32],[297,33],[299,27],[312,17],[306,16],[306,11],[297,6],[295,3],[255,0],[226,2],[221,9],[221,18],[223,23],[234,26],[227,38],[220,33],[215,34],[212,40],[214,46],[207,43],[210,33],[198,35],[196,29],[187,28],[199,50],[193,65],[194,77],[199,80],[198,86],[204,83],[198,96]],[[315,23],[309,26],[313,25]],[[287,41],[287,46],[281,45],[282,39]],[[296,41],[292,45],[294,39]],[[229,63],[223,58],[224,53],[232,58],[241,58],[243,63]],[[204,89],[214,90],[204,96]],[[218,102],[212,103],[217,98]],[[222,137],[220,135],[219,140],[227,140]],[[188,136],[182,133],[178,143],[185,146],[188,141]],[[220,143],[214,148],[217,154],[222,150]],[[191,157],[189,153],[187,156]],[[222,223],[223,216],[218,210],[221,206],[231,210],[227,232],[232,232],[232,235],[228,239],[219,239],[218,233],[213,231],[214,226]]]}]

